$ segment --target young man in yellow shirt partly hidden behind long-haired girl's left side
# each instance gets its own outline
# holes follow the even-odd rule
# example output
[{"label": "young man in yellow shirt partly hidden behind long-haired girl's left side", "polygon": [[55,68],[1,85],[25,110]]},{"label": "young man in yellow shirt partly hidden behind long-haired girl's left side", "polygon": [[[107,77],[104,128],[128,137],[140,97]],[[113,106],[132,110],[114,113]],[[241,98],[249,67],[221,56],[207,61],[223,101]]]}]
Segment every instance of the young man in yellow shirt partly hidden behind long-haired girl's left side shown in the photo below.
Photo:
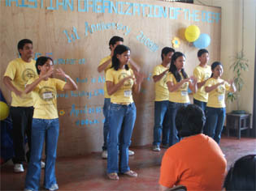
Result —
[{"label": "young man in yellow shirt partly hidden behind long-haired girl's left side", "polygon": [[153,151],[161,151],[161,137],[162,146],[169,147],[169,130],[168,125],[168,104],[169,104],[169,91],[166,83],[167,72],[171,63],[171,56],[175,52],[170,47],[162,49],[161,57],[162,63],[154,67],[153,80],[154,80],[154,142]]}]

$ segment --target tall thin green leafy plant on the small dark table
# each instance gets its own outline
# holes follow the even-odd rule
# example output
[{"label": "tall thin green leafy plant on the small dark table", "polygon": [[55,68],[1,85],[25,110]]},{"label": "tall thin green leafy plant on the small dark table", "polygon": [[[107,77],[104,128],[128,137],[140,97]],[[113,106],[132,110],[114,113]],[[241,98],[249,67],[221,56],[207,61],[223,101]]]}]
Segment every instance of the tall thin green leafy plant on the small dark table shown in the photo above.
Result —
[{"label": "tall thin green leafy plant on the small dark table", "polygon": [[245,58],[244,51],[241,50],[241,52],[236,53],[235,57],[232,57],[232,65],[229,67],[230,70],[232,70],[234,74],[234,83],[236,86],[236,92],[228,92],[227,100],[229,103],[232,103],[236,100],[236,113],[245,113],[245,111],[240,110],[240,91],[242,90],[244,86],[244,80],[242,79],[242,72],[248,71],[249,65],[248,65],[248,59]]}]

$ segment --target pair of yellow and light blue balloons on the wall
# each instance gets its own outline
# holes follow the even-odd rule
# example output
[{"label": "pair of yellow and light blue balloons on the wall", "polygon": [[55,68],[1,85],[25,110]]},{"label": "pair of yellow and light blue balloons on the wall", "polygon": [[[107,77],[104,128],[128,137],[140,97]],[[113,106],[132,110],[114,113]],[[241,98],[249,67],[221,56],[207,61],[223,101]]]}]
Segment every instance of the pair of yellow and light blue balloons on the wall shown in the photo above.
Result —
[{"label": "pair of yellow and light blue balloons on the wall", "polygon": [[205,49],[210,45],[210,36],[200,33],[200,29],[196,25],[190,25],[184,32],[186,40],[193,42],[197,49]]}]

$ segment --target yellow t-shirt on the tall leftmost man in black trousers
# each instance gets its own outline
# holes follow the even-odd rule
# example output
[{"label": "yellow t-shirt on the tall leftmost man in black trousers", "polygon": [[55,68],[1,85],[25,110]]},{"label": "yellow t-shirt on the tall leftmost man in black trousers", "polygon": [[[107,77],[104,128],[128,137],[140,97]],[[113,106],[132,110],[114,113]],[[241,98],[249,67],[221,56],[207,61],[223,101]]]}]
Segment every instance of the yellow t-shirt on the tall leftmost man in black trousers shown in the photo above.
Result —
[{"label": "yellow t-shirt on the tall leftmost man in black trousers", "polygon": [[[12,84],[17,90],[24,91],[28,79],[37,77],[36,61],[32,59],[31,62],[24,62],[21,58],[16,58],[8,64],[4,76],[11,78]],[[11,91],[11,98],[11,106],[13,107],[33,106],[31,93],[22,94],[20,97],[16,96],[15,92]]]}]

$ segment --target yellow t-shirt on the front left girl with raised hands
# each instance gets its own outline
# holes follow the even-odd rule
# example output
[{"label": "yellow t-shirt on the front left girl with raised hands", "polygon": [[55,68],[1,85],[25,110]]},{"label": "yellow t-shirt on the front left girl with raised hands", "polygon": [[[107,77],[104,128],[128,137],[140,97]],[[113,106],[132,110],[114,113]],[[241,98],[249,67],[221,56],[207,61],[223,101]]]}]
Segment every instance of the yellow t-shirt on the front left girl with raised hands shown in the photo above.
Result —
[{"label": "yellow t-shirt on the front left girl with raised hands", "polygon": [[[36,79],[30,79],[31,84]],[[60,79],[42,80],[32,91],[34,114],[33,118],[38,119],[56,119],[58,118],[57,110],[57,91],[63,91],[66,82]]]}]

